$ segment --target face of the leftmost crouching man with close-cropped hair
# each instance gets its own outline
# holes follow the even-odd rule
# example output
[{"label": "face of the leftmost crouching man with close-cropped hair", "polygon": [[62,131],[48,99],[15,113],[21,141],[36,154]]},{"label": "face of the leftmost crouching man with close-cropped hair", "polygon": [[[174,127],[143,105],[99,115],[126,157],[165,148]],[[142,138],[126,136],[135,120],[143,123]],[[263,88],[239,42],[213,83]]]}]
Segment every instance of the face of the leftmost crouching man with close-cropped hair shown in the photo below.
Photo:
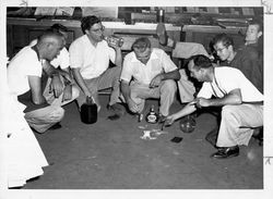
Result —
[{"label": "face of the leftmost crouching man with close-cropped hair", "polygon": [[47,46],[47,60],[51,61],[60,54],[64,46],[63,38],[55,38],[52,42]]}]

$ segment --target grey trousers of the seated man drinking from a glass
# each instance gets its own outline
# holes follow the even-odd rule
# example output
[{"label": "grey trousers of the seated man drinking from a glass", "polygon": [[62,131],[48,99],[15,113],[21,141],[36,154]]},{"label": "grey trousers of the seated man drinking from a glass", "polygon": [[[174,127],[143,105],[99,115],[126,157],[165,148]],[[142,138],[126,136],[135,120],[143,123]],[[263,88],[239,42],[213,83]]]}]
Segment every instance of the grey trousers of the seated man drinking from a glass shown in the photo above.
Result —
[{"label": "grey trousers of the seated man drinking from a glass", "polygon": [[[93,98],[95,99],[95,102],[100,108],[99,101],[98,101],[98,90],[103,90],[106,88],[112,88],[111,95],[110,95],[110,101],[109,105],[112,105],[116,102],[120,102],[120,77],[121,67],[115,66],[106,70],[100,76],[96,78],[91,79],[84,79],[85,85],[90,89]],[[81,90],[81,89],[80,89]],[[81,107],[86,101],[86,96],[83,94],[83,91],[80,91],[80,96],[76,99],[79,107]]]}]

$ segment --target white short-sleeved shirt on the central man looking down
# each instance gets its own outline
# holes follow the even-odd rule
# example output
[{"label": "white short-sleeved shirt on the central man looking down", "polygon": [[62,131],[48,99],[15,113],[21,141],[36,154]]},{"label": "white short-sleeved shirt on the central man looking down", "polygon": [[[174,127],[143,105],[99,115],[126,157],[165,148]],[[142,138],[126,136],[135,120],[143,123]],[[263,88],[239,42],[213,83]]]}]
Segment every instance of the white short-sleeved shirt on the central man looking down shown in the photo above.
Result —
[{"label": "white short-sleeved shirt on the central man looking down", "polygon": [[177,70],[176,64],[162,49],[153,48],[146,64],[140,62],[134,52],[126,55],[120,79],[130,82],[133,77],[140,84],[149,85],[158,74]]}]

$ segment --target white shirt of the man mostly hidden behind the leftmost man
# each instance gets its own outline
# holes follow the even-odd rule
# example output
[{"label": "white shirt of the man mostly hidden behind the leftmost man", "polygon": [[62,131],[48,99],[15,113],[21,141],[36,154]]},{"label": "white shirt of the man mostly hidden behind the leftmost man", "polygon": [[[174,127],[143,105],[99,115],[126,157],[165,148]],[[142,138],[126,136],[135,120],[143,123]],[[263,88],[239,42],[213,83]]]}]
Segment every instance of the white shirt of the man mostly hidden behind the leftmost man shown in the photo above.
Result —
[{"label": "white shirt of the man mostly hidden behind the leftmost man", "polygon": [[[34,39],[29,46],[33,47],[37,43],[37,39]],[[62,70],[64,69],[68,69],[69,65],[70,65],[70,61],[69,61],[69,52],[67,50],[67,48],[62,48],[61,51],[60,51],[60,54],[58,54],[57,58],[55,58],[52,61],[50,61],[50,64],[54,66],[54,67],[58,67],[60,66]]]}]

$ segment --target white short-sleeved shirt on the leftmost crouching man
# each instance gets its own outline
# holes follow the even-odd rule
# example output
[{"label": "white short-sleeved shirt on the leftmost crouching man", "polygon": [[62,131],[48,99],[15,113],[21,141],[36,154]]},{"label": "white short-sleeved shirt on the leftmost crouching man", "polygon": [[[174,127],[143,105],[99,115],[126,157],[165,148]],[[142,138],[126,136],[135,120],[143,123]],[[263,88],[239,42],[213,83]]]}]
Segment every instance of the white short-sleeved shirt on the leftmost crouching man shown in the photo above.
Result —
[{"label": "white short-sleeved shirt on the leftmost crouching man", "polygon": [[23,48],[9,63],[8,84],[11,92],[16,96],[31,89],[27,76],[41,77],[43,65],[37,53],[27,46]]}]

